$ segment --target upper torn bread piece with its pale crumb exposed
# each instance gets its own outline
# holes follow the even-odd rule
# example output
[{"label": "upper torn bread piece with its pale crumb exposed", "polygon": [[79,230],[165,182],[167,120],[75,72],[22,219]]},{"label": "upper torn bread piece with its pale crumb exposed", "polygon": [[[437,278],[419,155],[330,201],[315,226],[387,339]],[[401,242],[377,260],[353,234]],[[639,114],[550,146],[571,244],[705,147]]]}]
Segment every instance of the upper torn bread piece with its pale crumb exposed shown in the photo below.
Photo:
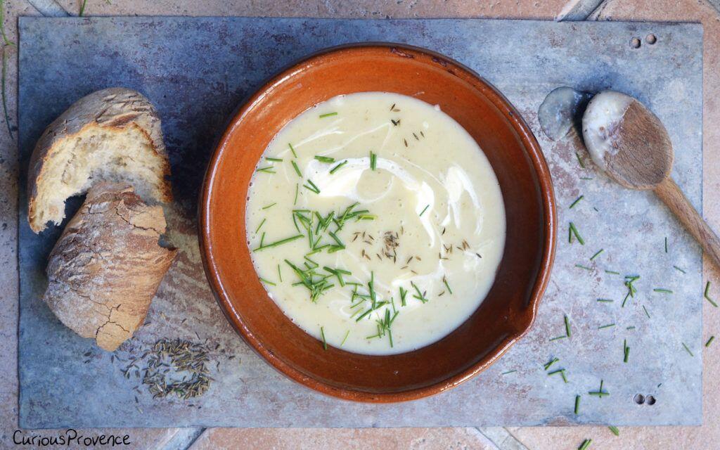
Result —
[{"label": "upper torn bread piece with its pale crumb exposed", "polygon": [[172,199],[160,118],[142,94],[125,88],[79,99],[51,123],[30,158],[27,219],[35,233],[65,218],[68,197],[96,181],[128,182],[145,202]]}]

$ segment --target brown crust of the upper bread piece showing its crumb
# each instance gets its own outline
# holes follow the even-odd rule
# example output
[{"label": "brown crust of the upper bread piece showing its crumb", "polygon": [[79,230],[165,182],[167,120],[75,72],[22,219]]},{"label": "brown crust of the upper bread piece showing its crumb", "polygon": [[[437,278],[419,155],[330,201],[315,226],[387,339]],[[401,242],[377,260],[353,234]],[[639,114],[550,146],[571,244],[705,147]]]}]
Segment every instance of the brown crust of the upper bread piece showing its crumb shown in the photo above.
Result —
[{"label": "brown crust of the upper bread piece showing its crumb", "polygon": [[84,96],[60,114],[37,141],[30,157],[27,174],[28,214],[27,220],[35,233],[45,229],[45,223],[37,223],[38,186],[42,184],[45,163],[53,152],[53,146],[60,140],[72,138],[84,132],[87,127],[108,127],[123,130],[135,127],[148,137],[151,147],[163,160],[160,202],[172,201],[169,181],[170,163],[163,142],[160,117],[153,104],[140,94],[127,88],[109,88]]}]

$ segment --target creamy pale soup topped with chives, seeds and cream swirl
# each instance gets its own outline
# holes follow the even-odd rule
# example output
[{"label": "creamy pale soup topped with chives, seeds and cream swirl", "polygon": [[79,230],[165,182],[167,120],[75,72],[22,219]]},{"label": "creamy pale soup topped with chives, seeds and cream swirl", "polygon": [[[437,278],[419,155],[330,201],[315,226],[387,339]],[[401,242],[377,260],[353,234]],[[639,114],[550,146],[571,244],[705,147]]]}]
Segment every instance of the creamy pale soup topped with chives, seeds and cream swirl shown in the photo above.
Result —
[{"label": "creamy pale soup topped with chives, seeds and cream swirl", "polygon": [[387,355],[467,320],[505,245],[498,179],[439,107],[336,96],[290,121],[253,175],[246,211],[258,277],[319,348]]}]

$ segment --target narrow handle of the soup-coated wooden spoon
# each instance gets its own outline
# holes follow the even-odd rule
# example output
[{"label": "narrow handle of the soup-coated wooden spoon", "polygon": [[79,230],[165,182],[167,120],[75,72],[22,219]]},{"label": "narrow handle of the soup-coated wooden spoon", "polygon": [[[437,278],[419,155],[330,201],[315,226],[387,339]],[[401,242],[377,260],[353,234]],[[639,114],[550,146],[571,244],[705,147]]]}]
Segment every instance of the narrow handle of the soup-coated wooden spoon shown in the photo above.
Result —
[{"label": "narrow handle of the soup-coated wooden spoon", "polygon": [[655,193],[678,216],[680,222],[683,222],[685,228],[703,247],[703,251],[713,258],[716,267],[720,268],[720,239],[690,204],[672,177],[668,176],[662,181],[655,188]]}]

